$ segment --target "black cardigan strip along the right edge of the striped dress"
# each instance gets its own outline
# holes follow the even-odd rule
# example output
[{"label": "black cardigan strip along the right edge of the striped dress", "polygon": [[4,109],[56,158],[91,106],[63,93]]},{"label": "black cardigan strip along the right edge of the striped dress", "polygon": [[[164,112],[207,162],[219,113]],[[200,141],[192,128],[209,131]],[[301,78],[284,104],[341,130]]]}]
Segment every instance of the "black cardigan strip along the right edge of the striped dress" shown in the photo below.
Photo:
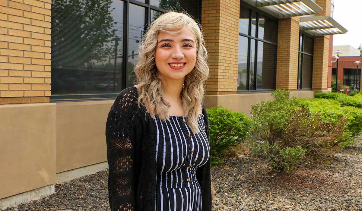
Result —
[{"label": "black cardigan strip along the right edge of the striped dress", "polygon": [[[205,122],[205,131],[207,140],[210,141],[209,135],[209,118],[207,117],[205,105],[202,104],[202,113]],[[211,175],[210,175],[210,159],[205,165],[196,169],[196,177],[201,187],[202,195],[202,211],[211,211],[212,199],[211,199]]]}]

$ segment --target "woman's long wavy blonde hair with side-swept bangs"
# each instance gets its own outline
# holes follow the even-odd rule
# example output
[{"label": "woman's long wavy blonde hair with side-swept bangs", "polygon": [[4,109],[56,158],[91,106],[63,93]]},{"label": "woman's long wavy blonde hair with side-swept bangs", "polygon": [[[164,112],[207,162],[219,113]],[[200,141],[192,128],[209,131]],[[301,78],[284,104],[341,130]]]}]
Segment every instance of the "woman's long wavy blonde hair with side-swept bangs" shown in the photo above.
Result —
[{"label": "woman's long wavy blonde hair with side-swept bangs", "polygon": [[168,110],[171,104],[166,102],[162,96],[163,88],[155,66],[155,50],[160,32],[178,35],[185,27],[188,27],[195,37],[197,55],[195,67],[185,76],[180,97],[185,110],[187,125],[196,134],[200,132],[197,121],[204,97],[203,83],[209,77],[209,66],[207,65],[207,51],[201,26],[189,14],[167,12],[148,26],[138,48],[140,60],[135,67],[136,77],[139,82],[137,102],[140,107],[141,104],[145,106],[144,102],[147,100],[148,113],[152,118],[155,118],[155,114],[157,114],[161,120],[169,120]]}]

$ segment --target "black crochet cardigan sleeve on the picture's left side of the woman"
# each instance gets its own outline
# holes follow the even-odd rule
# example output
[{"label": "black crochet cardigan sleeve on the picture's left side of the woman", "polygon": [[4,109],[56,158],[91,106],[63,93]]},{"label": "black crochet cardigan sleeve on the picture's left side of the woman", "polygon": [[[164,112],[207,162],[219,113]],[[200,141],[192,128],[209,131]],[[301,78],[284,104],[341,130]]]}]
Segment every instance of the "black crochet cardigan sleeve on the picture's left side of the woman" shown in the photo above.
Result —
[{"label": "black crochet cardigan sleeve on the picture's left side of the woman", "polygon": [[108,198],[111,211],[135,211],[134,98],[120,93],[106,122]]}]

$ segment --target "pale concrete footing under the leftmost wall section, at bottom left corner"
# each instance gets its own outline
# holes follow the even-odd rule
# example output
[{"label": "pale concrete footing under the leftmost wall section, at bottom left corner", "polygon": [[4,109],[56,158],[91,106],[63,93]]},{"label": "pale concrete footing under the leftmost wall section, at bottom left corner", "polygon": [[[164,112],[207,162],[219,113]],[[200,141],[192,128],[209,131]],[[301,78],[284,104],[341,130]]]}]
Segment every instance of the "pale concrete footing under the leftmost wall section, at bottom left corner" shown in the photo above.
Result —
[{"label": "pale concrete footing under the leftmost wall section, at bottom left corner", "polygon": [[55,191],[55,186],[48,185],[45,187],[40,187],[35,190],[30,190],[25,193],[13,195],[11,197],[0,199],[0,210],[8,207],[16,207],[22,203],[28,203],[31,200],[38,200],[48,195],[53,194]]}]

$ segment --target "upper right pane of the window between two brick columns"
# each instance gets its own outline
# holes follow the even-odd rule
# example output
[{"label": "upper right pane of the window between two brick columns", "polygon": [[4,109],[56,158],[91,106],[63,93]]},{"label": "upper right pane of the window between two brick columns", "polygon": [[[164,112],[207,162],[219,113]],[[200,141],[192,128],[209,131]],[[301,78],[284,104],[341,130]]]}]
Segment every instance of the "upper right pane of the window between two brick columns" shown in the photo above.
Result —
[{"label": "upper right pane of the window between two brick columns", "polygon": [[278,22],[259,15],[258,38],[270,42],[277,42]]}]

